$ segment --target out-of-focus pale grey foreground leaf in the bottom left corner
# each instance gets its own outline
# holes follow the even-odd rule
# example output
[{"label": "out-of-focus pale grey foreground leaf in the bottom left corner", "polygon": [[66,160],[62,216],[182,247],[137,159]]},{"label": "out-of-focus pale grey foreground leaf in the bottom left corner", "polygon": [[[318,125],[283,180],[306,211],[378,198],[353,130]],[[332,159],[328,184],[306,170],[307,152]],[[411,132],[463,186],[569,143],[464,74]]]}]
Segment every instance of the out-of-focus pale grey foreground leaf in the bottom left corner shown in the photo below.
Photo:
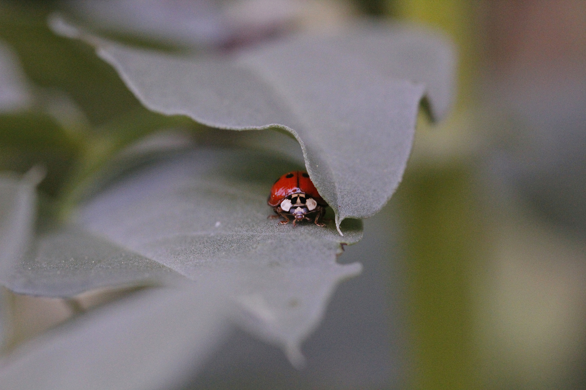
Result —
[{"label": "out-of-focus pale grey foreground leaf in the bottom left corner", "polygon": [[0,361],[2,388],[175,388],[222,337],[228,283],[149,289],[86,313]]}]

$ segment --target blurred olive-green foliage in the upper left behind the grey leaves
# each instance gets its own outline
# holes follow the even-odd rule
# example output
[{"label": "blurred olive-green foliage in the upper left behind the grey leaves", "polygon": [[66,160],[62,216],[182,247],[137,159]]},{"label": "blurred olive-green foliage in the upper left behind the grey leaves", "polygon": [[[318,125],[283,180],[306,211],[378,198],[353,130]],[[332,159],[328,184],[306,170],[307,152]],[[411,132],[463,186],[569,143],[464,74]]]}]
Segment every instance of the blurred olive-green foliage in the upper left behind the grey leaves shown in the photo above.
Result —
[{"label": "blurred olive-green foliage in the upper left behind the grey leaves", "polygon": [[47,26],[54,4],[7,1],[0,9],[0,39],[18,56],[30,94],[28,110],[0,125],[6,169],[45,164],[40,188],[54,198],[132,140],[175,125],[145,109],[87,46],[55,36]]}]

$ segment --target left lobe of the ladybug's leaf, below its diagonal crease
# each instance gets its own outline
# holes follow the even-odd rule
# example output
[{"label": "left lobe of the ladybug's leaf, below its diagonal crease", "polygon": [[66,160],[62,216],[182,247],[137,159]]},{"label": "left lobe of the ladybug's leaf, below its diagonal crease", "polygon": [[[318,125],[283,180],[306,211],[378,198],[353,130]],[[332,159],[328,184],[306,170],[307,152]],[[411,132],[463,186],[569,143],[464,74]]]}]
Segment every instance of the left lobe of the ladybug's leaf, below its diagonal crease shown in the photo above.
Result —
[{"label": "left lobe of the ladybug's leaf, below its diagonal crease", "polygon": [[35,253],[0,279],[19,294],[73,296],[100,287],[168,281],[179,274],[168,267],[68,225],[42,233]]}]

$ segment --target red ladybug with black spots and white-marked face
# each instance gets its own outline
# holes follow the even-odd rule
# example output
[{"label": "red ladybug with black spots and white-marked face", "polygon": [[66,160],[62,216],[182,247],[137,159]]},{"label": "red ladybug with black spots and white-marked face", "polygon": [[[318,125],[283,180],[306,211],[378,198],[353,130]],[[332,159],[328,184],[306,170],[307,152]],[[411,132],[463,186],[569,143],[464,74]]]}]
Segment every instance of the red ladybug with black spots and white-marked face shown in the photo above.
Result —
[{"label": "red ladybug with black spots and white-marked face", "polygon": [[295,222],[301,222],[304,219],[311,220],[306,215],[316,213],[315,225],[326,226],[318,220],[325,214],[328,203],[319,195],[307,172],[292,171],[278,178],[272,185],[267,203],[277,214],[269,218],[279,218],[279,216],[285,218],[280,223],[289,222],[287,215],[291,215],[294,218],[293,226],[295,227]]}]

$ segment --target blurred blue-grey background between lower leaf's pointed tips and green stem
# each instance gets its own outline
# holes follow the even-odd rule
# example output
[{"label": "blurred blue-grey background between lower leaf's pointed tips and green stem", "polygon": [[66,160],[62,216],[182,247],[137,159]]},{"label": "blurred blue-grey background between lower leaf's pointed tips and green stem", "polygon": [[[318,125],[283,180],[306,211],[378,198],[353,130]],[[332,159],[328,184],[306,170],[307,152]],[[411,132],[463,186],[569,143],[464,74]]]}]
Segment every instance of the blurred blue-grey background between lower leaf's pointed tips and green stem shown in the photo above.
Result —
[{"label": "blurred blue-grey background between lower leaf's pointed tips and green stem", "polygon": [[336,288],[321,325],[303,343],[304,370],[291,367],[277,348],[234,332],[185,388],[402,389],[404,274],[395,260],[394,214],[387,205],[364,220],[364,238],[340,257],[360,261],[364,270]]}]

